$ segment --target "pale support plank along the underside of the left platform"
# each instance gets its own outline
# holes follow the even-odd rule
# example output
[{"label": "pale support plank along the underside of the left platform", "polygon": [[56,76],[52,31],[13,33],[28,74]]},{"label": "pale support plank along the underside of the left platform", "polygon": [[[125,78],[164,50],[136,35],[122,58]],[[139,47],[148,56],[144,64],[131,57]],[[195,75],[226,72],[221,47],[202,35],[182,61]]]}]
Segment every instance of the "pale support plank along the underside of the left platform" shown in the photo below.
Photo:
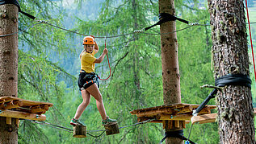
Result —
[{"label": "pale support plank along the underside of the left platform", "polygon": [[45,121],[46,116],[44,114],[36,114],[36,113],[26,113],[19,112],[13,110],[3,110],[0,113],[0,117],[14,117],[14,118],[22,118],[27,120],[36,120],[36,121]]}]

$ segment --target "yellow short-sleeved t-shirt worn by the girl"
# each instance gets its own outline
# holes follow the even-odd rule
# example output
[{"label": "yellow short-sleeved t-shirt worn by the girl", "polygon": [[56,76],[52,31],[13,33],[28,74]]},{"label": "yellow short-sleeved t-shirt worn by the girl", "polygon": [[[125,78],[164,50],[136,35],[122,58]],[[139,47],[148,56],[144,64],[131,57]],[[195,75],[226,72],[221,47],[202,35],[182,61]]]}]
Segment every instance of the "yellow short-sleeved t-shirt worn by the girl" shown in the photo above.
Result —
[{"label": "yellow short-sleeved t-shirt worn by the girl", "polygon": [[91,54],[84,51],[81,56],[81,69],[87,73],[94,72],[96,58],[94,57],[95,51]]}]

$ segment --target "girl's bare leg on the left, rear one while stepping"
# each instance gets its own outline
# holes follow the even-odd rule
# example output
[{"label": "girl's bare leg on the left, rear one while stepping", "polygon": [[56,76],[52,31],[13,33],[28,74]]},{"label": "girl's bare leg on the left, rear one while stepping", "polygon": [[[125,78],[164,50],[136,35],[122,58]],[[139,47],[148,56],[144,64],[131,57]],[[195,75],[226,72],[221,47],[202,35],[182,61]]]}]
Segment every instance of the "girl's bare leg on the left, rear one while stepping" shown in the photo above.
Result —
[{"label": "girl's bare leg on the left, rear one while stepping", "polygon": [[82,93],[82,103],[78,106],[77,113],[74,115],[74,119],[78,120],[81,117],[82,112],[90,104],[90,93],[86,89],[81,91]]}]

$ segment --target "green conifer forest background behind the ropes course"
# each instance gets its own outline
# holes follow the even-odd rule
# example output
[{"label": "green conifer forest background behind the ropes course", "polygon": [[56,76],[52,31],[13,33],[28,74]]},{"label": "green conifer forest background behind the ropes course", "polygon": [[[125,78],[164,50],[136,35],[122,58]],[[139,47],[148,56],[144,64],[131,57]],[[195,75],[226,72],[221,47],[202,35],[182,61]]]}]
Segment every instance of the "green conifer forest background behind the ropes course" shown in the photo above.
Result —
[{"label": "green conifer forest background behind the ropes course", "polygon": [[[256,2],[248,2],[250,21],[256,22]],[[38,19],[96,37],[128,34],[158,21],[157,0],[19,0],[19,4],[22,10]],[[205,0],[176,0],[175,10],[179,18],[192,23],[209,24],[208,3]],[[35,23],[19,14],[19,30]],[[180,30],[188,25],[177,21],[176,27]],[[252,24],[251,29],[255,43],[256,24]],[[147,33],[150,35],[107,38],[112,75],[109,80],[100,81],[99,89],[103,94],[107,115],[117,119],[120,126],[136,123],[136,116],[129,113],[133,109],[163,105],[159,26]],[[212,91],[208,88],[201,89],[200,86],[214,84],[211,27],[188,27],[178,31],[177,35],[182,102],[200,104]],[[19,34],[19,97],[53,103],[54,106],[46,113],[46,121],[70,129],[72,126],[69,121],[82,102],[77,86],[82,39],[82,35],[46,24],[36,25]],[[104,40],[96,38],[100,47],[96,57],[103,51]],[[256,85],[250,47],[248,51],[256,107]],[[109,75],[106,58],[102,64],[96,65],[95,71],[102,78]],[[215,105],[215,101],[212,100],[209,104]],[[103,130],[94,98],[82,114],[81,120],[86,123],[88,130]],[[187,124],[184,130],[186,137],[190,126],[191,124]],[[73,138],[72,133],[31,121],[21,121],[19,127],[19,143],[158,143],[163,136],[162,124],[155,123],[128,127],[121,129],[120,134],[103,134],[99,138]],[[218,143],[217,124],[194,125],[191,140],[199,144]]]}]

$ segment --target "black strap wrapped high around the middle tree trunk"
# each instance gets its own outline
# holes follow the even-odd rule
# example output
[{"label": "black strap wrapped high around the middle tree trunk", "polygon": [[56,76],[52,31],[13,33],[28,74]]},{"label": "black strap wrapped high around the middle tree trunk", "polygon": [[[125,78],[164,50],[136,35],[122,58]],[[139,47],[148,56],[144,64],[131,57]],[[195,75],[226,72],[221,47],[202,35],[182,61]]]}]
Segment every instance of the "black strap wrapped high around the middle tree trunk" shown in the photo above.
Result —
[{"label": "black strap wrapped high around the middle tree trunk", "polygon": [[185,19],[179,19],[177,17],[175,17],[174,15],[172,14],[168,14],[168,13],[161,13],[159,14],[159,21],[156,23],[156,24],[153,24],[152,26],[149,26],[149,27],[145,27],[144,31],[147,31],[149,30],[150,28],[152,27],[155,27],[157,25],[161,25],[162,23],[166,23],[166,22],[169,22],[169,21],[174,21],[174,20],[178,20],[180,22],[183,22],[183,23],[187,23],[188,24],[188,21],[185,20]]}]

